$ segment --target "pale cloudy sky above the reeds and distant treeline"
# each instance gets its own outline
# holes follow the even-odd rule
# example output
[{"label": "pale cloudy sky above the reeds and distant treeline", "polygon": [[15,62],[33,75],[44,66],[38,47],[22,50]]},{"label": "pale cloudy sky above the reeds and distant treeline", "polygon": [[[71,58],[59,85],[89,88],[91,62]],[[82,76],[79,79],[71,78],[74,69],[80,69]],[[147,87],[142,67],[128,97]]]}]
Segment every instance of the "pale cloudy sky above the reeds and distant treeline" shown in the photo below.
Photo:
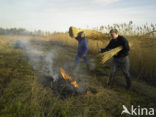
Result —
[{"label": "pale cloudy sky above the reeds and distant treeline", "polygon": [[128,23],[156,24],[156,0],[0,0],[0,27],[67,31]]}]

